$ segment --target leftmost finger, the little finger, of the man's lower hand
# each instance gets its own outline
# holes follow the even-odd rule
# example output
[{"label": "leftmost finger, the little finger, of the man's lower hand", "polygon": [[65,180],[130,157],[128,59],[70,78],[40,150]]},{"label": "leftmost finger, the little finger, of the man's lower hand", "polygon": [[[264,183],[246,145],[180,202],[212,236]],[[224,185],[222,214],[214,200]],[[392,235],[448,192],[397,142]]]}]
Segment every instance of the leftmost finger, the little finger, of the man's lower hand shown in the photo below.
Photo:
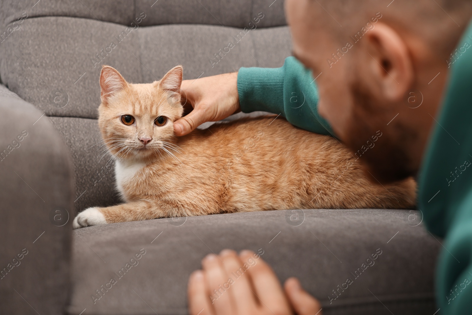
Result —
[{"label": "leftmost finger, the little finger, of the man's lower hand", "polygon": [[190,315],[214,315],[201,270],[194,271],[190,275],[187,291]]}]

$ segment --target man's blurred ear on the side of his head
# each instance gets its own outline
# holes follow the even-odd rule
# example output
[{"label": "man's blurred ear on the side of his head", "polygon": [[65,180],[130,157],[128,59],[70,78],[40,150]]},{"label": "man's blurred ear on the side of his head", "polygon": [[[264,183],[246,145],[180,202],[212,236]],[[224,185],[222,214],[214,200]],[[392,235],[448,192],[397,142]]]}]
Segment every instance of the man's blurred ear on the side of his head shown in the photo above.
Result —
[{"label": "man's blurred ear on the side of his head", "polygon": [[[390,26],[377,23],[367,32],[367,51],[371,74],[380,85],[380,93],[393,102],[401,100],[413,84],[413,64],[408,47]],[[368,63],[369,64],[369,63]]]}]

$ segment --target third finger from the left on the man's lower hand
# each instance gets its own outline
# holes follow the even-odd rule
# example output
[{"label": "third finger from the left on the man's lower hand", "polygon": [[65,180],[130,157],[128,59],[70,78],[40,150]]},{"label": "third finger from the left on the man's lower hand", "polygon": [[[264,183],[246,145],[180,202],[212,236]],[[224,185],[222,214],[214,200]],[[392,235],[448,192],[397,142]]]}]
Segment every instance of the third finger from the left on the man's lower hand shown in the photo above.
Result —
[{"label": "third finger from the left on the man's lower hand", "polygon": [[255,263],[254,258],[250,261],[242,262],[234,250],[225,249],[221,251],[221,260],[226,269],[226,273],[230,279],[230,290],[233,293],[236,301],[236,308],[238,314],[249,314],[250,310],[256,308],[257,303],[254,298],[254,290],[249,280],[249,275],[244,269],[244,264],[250,266]]}]

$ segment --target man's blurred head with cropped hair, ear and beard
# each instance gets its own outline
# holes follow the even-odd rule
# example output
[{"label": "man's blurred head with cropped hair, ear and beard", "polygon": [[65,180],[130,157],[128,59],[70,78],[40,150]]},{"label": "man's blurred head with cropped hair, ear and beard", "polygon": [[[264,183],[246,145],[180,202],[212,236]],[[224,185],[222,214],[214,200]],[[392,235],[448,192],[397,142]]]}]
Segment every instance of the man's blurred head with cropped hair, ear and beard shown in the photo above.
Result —
[{"label": "man's blurred head with cropped hair, ear and beard", "polygon": [[317,77],[318,110],[337,136],[379,181],[414,175],[472,1],[286,0],[286,11],[294,55]]}]

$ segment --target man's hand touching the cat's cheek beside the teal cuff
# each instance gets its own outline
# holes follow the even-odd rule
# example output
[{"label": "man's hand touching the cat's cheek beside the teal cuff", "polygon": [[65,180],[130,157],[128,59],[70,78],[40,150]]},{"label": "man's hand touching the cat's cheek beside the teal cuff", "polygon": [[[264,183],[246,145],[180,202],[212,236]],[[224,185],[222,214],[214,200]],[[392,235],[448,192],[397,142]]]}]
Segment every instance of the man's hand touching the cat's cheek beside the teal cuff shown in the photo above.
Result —
[{"label": "man's hand touching the cat's cheek beside the teal cuff", "polygon": [[237,72],[184,80],[180,95],[193,110],[174,122],[177,136],[185,136],[207,121],[218,121],[240,111]]}]

